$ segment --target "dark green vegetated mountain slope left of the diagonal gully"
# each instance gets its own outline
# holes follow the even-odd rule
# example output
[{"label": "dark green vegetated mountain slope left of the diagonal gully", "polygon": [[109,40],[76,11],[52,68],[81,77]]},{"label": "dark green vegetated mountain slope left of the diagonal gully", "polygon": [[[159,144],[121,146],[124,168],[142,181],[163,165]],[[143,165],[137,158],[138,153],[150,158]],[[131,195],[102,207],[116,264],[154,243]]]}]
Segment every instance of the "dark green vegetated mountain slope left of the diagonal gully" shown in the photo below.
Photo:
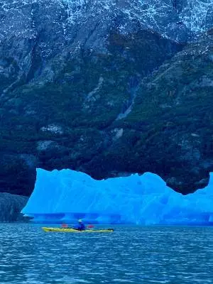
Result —
[{"label": "dark green vegetated mountain slope left of the diagonal gully", "polygon": [[56,55],[49,62],[51,80],[35,77],[3,94],[1,190],[29,195],[35,167],[86,170],[94,178],[125,167],[102,163],[102,155],[119,139],[114,140],[111,127],[128,114],[141,78],[181,49],[152,31],[111,31],[107,51],[82,48],[77,58],[66,60]]}]

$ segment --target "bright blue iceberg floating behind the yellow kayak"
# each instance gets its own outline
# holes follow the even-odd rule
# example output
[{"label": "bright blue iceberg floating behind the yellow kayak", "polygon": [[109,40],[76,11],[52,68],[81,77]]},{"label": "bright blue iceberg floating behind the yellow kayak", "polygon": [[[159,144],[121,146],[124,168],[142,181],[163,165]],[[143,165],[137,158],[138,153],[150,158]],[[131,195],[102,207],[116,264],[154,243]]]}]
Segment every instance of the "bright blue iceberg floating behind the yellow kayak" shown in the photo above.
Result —
[{"label": "bright blue iceberg floating behind the yellow kayak", "polygon": [[213,179],[180,195],[152,173],[94,180],[74,170],[38,169],[22,213],[34,222],[73,224],[213,224]]}]

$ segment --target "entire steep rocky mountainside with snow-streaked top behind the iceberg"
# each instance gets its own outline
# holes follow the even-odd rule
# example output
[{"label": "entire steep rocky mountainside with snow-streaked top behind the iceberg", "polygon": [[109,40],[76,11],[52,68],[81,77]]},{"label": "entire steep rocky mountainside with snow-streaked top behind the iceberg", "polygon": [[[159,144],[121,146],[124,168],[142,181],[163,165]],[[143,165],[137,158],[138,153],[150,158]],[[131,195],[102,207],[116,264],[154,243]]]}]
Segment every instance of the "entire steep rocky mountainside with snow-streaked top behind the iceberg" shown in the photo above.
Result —
[{"label": "entire steep rocky mountainside with snow-streaked top behind the iceberg", "polygon": [[0,21],[1,192],[36,167],[207,185],[213,0],[1,0]]}]

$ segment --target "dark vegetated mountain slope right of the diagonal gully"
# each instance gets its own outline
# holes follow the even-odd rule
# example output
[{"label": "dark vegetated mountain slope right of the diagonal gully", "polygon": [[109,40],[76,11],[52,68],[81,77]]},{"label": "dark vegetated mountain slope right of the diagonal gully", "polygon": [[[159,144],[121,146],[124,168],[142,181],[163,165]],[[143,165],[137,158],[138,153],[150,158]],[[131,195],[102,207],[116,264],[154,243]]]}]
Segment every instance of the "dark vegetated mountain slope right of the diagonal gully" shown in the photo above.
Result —
[{"label": "dark vegetated mountain slope right of the diagonal gully", "polygon": [[209,31],[146,77],[131,113],[114,124],[126,136],[107,159],[119,157],[127,171],[158,173],[182,193],[207,185],[213,170],[212,54]]}]

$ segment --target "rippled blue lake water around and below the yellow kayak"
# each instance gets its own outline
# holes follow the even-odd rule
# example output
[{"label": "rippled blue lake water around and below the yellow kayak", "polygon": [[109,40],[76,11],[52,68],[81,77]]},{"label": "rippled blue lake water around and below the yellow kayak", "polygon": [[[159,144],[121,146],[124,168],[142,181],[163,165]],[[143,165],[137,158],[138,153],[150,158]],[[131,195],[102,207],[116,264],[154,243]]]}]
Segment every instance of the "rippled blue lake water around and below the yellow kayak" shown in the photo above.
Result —
[{"label": "rippled blue lake water around and below the yellow kayak", "polygon": [[0,224],[0,283],[213,283],[213,227],[45,233]]}]

